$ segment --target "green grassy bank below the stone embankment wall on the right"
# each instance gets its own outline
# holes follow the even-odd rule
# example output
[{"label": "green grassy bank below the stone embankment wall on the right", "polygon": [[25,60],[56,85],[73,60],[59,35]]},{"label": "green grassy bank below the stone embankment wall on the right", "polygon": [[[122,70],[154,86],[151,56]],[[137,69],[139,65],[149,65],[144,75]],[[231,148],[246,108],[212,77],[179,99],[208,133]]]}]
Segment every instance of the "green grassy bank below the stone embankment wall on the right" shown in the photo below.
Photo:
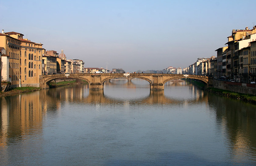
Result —
[{"label": "green grassy bank below the stone embankment wall on the right", "polygon": [[237,93],[237,92],[231,92],[227,90],[217,89],[217,88],[207,88],[208,92],[219,94],[226,97],[231,97],[234,99],[244,100],[247,102],[253,102],[256,103],[256,96],[254,95],[248,95],[244,93]]}]

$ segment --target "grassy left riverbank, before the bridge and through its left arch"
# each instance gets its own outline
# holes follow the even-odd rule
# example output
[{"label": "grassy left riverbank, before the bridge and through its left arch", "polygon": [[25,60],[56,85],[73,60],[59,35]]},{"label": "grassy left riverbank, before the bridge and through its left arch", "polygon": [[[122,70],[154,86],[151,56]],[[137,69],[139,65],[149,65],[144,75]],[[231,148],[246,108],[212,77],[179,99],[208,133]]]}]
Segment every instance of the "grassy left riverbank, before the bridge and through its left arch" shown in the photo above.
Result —
[{"label": "grassy left riverbank, before the bridge and through its left arch", "polygon": [[[88,84],[86,81],[62,81],[62,82],[50,82],[50,88],[56,88],[59,86],[65,86],[65,85],[73,85],[73,84]],[[18,93],[24,93],[24,92],[32,92],[32,91],[38,91],[41,90],[41,88],[37,87],[17,87],[17,88],[12,88],[7,92],[1,92],[1,96],[7,96],[7,95],[13,95],[13,94],[18,94]]]}]

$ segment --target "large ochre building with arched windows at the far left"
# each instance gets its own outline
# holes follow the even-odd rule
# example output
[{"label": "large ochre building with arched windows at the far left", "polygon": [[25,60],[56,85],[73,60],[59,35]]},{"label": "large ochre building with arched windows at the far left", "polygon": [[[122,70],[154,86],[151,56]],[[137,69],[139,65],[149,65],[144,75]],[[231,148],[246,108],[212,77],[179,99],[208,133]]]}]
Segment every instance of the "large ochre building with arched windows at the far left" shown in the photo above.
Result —
[{"label": "large ochre building with arched windows at the far left", "polygon": [[16,32],[0,33],[0,47],[5,48],[6,57],[4,59],[9,65],[3,69],[6,77],[2,81],[10,81],[12,87],[39,86],[39,75],[41,75],[42,48],[41,43],[34,43],[28,39],[23,39],[23,34]]}]

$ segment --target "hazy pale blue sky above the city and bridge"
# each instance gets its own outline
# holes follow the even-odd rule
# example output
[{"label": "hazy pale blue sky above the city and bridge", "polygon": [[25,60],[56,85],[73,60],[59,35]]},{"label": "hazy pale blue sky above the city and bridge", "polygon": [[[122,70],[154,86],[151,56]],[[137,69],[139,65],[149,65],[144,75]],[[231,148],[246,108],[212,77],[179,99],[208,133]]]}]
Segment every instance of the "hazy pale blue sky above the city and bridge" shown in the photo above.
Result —
[{"label": "hazy pale blue sky above the city and bridge", "polygon": [[45,50],[64,50],[84,67],[163,70],[217,56],[232,29],[256,25],[250,4],[254,0],[0,0],[0,29],[22,33]]}]

